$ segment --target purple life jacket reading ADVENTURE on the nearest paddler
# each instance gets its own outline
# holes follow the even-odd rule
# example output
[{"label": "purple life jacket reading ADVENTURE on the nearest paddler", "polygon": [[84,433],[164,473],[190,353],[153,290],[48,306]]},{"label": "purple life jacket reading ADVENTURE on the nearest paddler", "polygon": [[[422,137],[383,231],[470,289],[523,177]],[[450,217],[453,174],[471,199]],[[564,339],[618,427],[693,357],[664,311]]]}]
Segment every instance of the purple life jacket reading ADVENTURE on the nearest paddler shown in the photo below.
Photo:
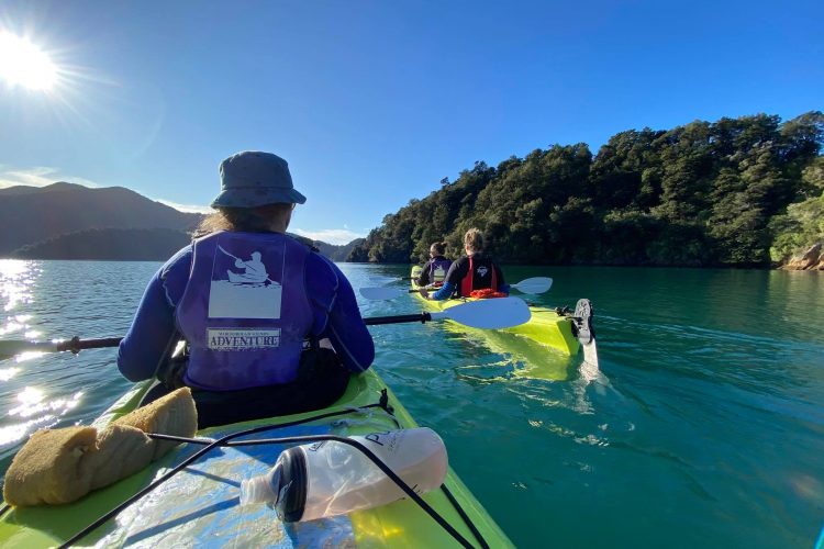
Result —
[{"label": "purple life jacket reading ADVENTURE on the nearest paddler", "polygon": [[310,250],[277,233],[213,233],[194,240],[175,313],[189,343],[185,382],[231,391],[298,377],[313,314],[303,281]]}]

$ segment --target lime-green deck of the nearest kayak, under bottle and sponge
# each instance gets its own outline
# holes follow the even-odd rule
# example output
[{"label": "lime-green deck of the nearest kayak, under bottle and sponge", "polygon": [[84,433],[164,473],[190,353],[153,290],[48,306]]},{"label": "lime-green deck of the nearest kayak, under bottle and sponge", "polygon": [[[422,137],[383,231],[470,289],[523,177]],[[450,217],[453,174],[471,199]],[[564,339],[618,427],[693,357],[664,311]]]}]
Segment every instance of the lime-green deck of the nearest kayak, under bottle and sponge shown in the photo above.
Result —
[{"label": "lime-green deck of the nearest kayak, under bottle and sponge", "polygon": [[[147,389],[146,383],[135,385],[103,413],[94,422],[94,426],[103,427],[134,410]],[[386,397],[381,400],[383,390]],[[320,415],[334,413],[339,414],[318,418]],[[309,423],[293,425],[312,418]],[[363,374],[353,376],[345,394],[329,408],[212,427],[199,432],[198,436],[219,438],[227,433],[265,425],[272,425],[275,428],[258,433],[254,438],[319,434],[365,435],[416,426],[380,377],[370,369]],[[249,438],[243,437],[244,440]],[[339,517],[286,525],[272,509],[264,505],[241,507],[241,481],[267,471],[286,447],[260,445],[215,448],[73,545],[444,547],[457,544],[444,527],[412,500],[401,500]],[[4,547],[26,548],[65,544],[200,448],[194,444],[181,445],[141,472],[71,504],[8,507],[0,516],[0,542]],[[471,546],[511,546],[503,531],[452,469],[444,486],[446,490],[442,488],[422,497]],[[455,503],[450,501],[450,496]],[[461,513],[466,518],[461,517]]]}]

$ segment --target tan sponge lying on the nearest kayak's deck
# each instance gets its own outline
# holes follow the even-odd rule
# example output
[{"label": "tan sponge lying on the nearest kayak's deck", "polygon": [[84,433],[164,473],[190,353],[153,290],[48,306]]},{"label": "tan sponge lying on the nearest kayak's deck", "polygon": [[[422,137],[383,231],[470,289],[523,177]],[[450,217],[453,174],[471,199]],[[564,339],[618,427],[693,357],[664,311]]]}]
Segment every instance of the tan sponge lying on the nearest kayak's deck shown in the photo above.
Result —
[{"label": "tan sponge lying on the nearest kayak's deck", "polygon": [[197,428],[191,390],[182,388],[103,430],[82,426],[38,430],[14,456],[3,498],[18,506],[74,502],[134,474],[177,445],[154,440],[146,433],[191,437]]}]

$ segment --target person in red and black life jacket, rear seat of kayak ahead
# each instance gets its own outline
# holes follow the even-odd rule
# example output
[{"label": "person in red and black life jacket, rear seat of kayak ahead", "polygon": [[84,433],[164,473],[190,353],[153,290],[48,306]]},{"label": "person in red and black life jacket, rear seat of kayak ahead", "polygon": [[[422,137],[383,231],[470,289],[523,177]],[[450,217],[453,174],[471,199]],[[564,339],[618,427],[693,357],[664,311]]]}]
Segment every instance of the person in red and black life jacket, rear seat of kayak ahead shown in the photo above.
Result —
[{"label": "person in red and black life jacket, rear seat of kayak ahead", "polygon": [[503,279],[503,272],[495,262],[483,254],[483,233],[470,228],[464,235],[466,256],[452,264],[446,273],[444,285],[427,299],[442,301],[456,294],[460,298],[504,298],[510,287]]}]

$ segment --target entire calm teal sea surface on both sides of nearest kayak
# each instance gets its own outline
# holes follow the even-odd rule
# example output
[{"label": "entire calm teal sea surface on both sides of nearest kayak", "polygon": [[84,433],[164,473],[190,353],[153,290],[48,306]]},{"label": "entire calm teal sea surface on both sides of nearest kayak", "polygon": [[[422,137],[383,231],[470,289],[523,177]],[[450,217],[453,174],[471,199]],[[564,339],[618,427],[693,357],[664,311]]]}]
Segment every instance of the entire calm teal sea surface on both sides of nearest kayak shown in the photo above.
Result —
[{"label": "entire calm teal sea surface on both sides of nearest kayak", "polygon": [[[153,262],[0,260],[0,339],[122,335]],[[353,285],[405,266],[342,265]],[[595,306],[600,372],[517,339],[375,326],[375,367],[521,547],[809,548],[824,523],[824,276],[510,268]],[[397,285],[402,287],[398,281]],[[420,310],[412,296],[364,315]],[[0,362],[0,470],[129,383],[114,349]]]}]

